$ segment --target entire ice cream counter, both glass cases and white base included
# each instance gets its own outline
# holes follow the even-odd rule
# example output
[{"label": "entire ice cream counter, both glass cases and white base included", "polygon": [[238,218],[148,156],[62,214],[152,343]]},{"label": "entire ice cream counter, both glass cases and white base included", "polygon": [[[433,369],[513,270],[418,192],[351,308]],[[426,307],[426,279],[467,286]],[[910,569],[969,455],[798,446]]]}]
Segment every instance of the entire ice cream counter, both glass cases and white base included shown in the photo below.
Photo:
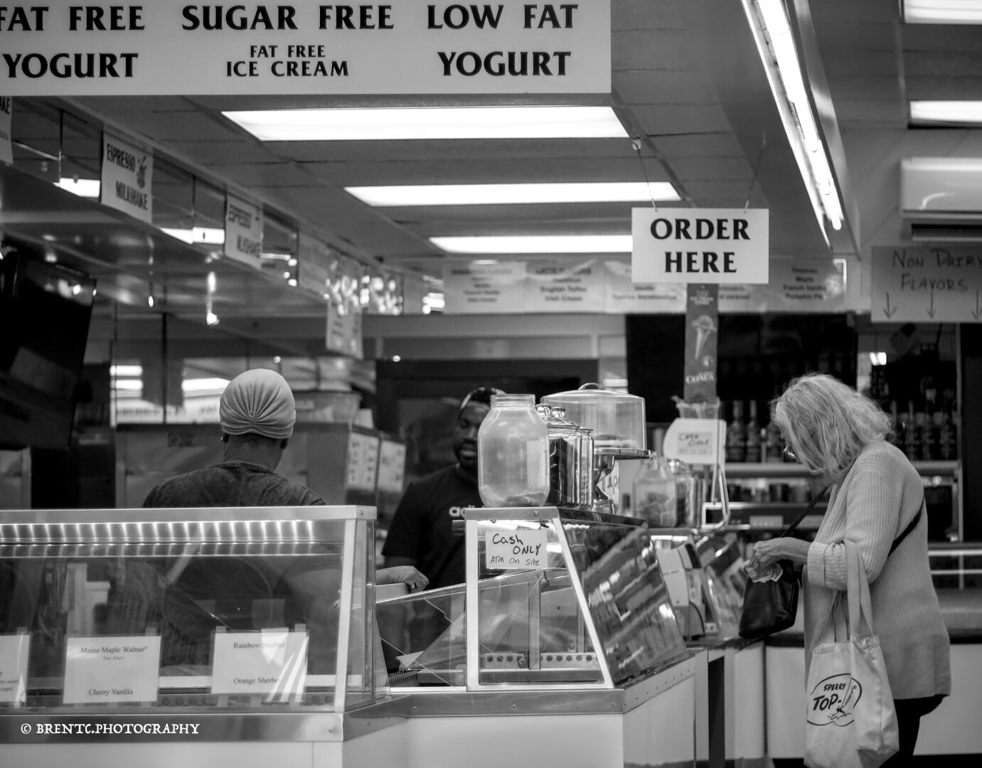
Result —
[{"label": "entire ice cream counter, both glass cases and white base included", "polygon": [[373,526],[359,507],[0,514],[3,764],[695,759],[706,654],[646,523],[468,510],[466,582],[377,605]]}]

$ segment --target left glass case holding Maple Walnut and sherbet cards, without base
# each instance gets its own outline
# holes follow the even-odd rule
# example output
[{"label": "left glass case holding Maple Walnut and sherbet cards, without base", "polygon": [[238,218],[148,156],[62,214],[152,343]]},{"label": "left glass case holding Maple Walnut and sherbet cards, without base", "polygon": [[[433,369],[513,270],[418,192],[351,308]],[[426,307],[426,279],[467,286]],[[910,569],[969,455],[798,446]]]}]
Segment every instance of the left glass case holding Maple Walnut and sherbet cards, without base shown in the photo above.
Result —
[{"label": "left glass case holding Maple Walnut and sherbet cards, without base", "polygon": [[2,512],[0,708],[371,703],[374,524],[353,506]]}]

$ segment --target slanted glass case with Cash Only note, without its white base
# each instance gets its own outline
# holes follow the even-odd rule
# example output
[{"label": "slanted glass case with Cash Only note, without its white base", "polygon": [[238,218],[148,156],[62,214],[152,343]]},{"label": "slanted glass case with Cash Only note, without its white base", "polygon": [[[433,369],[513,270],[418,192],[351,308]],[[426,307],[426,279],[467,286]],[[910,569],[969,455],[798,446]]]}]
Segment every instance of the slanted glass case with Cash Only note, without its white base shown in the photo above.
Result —
[{"label": "slanted glass case with Cash Only note, without its white base", "polygon": [[624,686],[687,651],[647,523],[466,510],[465,584],[380,601],[393,688]]}]

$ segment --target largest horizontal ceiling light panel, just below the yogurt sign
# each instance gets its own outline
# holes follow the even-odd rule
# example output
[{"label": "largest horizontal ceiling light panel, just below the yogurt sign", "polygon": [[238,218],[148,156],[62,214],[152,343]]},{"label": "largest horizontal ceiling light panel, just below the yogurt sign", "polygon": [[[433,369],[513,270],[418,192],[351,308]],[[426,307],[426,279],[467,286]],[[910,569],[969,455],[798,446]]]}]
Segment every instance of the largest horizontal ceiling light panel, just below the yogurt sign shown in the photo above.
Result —
[{"label": "largest horizontal ceiling light panel, just below the yogurt sign", "polygon": [[387,107],[222,114],[262,141],[627,138],[610,107]]}]

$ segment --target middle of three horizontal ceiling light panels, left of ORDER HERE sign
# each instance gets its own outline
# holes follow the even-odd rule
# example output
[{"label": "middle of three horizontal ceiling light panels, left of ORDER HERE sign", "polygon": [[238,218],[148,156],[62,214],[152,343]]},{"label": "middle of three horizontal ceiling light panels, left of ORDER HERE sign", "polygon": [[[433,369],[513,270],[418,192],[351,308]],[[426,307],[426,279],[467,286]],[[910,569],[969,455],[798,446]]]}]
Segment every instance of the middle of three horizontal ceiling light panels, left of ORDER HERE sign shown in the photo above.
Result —
[{"label": "middle of three horizontal ceiling light panels, left of ORDER HERE sign", "polygon": [[518,205],[550,202],[678,200],[670,182],[597,184],[428,184],[346,187],[362,202],[386,205]]}]

